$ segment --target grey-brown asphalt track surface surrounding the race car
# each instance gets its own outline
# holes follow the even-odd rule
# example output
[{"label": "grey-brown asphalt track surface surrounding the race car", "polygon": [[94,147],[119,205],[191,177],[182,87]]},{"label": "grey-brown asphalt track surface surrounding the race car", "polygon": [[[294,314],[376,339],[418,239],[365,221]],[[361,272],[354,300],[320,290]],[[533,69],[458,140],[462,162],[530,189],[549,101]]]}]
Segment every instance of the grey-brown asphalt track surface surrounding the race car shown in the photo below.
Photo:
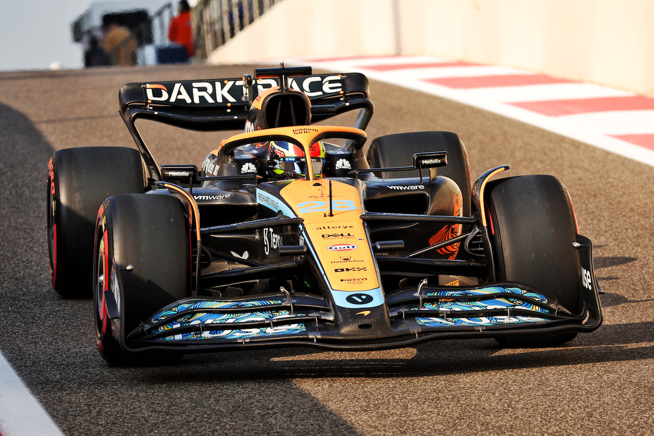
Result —
[{"label": "grey-brown asphalt track surface surrounding the race car", "polygon": [[[473,177],[551,174],[595,246],[604,325],[555,348],[490,339],[379,352],[293,348],[120,368],[95,350],[90,299],[50,287],[46,164],[54,150],[131,146],[126,82],[237,77],[252,66],[0,73],[0,351],[67,435],[651,434],[654,168],[536,127],[371,82],[369,137],[454,131]],[[196,163],[207,134],[145,126],[158,163]]]}]

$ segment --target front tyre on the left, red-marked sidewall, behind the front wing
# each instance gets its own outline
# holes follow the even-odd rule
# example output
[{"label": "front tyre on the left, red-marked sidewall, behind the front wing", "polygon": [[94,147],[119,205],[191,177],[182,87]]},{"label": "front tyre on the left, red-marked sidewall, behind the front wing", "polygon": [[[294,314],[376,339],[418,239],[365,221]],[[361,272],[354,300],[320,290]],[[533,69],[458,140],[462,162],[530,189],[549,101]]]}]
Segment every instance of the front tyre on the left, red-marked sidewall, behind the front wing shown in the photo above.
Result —
[{"label": "front tyre on the left, red-marked sidewall, behind the front wing", "polygon": [[97,350],[109,363],[141,363],[120,347],[166,305],[190,296],[188,220],[181,201],[155,194],[109,197],[95,224]]}]

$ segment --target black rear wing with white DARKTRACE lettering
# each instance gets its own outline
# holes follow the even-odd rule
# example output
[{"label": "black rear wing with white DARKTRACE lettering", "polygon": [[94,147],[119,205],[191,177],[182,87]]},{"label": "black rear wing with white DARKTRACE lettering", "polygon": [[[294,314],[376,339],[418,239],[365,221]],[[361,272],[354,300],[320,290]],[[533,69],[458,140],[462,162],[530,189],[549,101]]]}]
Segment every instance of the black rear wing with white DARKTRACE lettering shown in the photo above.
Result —
[{"label": "black rear wing with white DARKTRACE lettering", "polygon": [[[149,169],[160,179],[159,167],[135,127],[138,119],[200,131],[243,130],[250,104],[267,88],[279,85],[269,73],[284,71],[288,87],[311,100],[311,120],[319,122],[360,109],[353,127],[365,129],[373,113],[368,78],[361,73],[311,74],[311,67],[256,70],[258,77],[128,83],[118,93],[120,114]],[[297,73],[302,73],[297,75]],[[295,73],[295,74],[293,74]],[[308,74],[307,74],[308,73]]]}]

